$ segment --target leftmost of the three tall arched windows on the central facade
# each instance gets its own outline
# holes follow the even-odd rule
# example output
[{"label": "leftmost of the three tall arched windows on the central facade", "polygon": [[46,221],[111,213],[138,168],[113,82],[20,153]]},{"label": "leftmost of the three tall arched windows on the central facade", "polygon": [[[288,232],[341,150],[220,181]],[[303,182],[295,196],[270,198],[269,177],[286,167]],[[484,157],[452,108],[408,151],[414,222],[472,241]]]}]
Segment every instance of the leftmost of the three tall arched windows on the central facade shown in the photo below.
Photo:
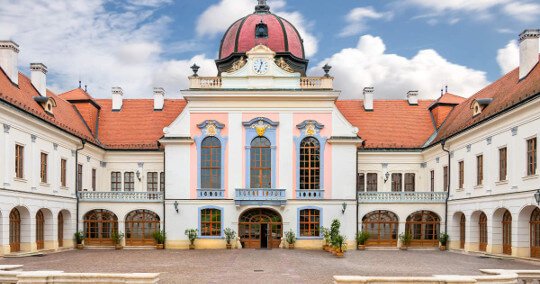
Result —
[{"label": "leftmost of the three tall arched windows on the central facade", "polygon": [[213,136],[201,144],[201,188],[221,188],[221,142]]}]

